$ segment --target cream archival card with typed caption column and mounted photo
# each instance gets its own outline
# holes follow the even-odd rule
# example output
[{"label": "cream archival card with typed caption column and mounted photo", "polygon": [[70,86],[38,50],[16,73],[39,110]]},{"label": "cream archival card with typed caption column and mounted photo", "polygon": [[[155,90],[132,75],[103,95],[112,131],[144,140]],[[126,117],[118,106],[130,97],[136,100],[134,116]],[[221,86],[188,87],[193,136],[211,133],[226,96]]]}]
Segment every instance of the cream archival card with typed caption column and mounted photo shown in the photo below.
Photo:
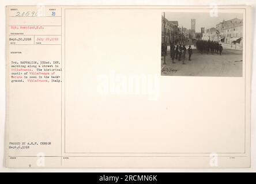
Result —
[{"label": "cream archival card with typed caption column and mounted photo", "polygon": [[250,167],[249,6],[6,6],[6,167]]}]

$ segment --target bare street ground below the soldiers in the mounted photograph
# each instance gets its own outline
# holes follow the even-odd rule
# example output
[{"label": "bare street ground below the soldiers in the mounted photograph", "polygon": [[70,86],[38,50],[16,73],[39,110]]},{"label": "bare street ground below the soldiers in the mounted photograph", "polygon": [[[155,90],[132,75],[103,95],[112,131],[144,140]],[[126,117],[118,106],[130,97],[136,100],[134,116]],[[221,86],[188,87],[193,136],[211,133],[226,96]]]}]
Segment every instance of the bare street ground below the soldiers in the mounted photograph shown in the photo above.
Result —
[{"label": "bare street ground below the soldiers in the mounted photograph", "polygon": [[193,49],[193,55],[189,60],[186,52],[185,63],[175,59],[172,63],[170,52],[161,57],[161,75],[171,76],[242,76],[243,51],[224,49],[222,55],[198,53]]}]

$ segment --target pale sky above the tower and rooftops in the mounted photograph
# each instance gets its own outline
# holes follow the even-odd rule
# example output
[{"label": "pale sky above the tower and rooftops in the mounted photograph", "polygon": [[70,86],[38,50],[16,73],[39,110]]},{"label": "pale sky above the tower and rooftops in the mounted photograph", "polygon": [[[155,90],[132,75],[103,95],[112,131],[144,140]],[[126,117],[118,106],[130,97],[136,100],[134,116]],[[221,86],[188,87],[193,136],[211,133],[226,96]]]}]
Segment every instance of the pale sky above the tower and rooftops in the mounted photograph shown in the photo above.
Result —
[{"label": "pale sky above the tower and rooftops in the mounted photograph", "polygon": [[217,17],[210,17],[209,13],[176,13],[165,12],[165,18],[169,21],[178,21],[179,26],[191,28],[191,18],[195,18],[195,32],[201,32],[201,27],[215,28],[223,20],[231,20],[232,18],[243,18],[242,13],[218,13]]}]

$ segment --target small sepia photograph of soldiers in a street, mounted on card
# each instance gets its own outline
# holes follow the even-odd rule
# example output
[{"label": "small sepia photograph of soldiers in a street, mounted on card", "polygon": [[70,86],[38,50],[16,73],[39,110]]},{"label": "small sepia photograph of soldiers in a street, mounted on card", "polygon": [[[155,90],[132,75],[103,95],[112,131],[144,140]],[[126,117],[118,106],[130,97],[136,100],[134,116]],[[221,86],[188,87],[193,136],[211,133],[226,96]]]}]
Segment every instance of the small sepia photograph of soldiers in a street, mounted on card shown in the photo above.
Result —
[{"label": "small sepia photograph of soldiers in a street, mounted on card", "polygon": [[163,12],[161,75],[243,76],[243,14]]}]

